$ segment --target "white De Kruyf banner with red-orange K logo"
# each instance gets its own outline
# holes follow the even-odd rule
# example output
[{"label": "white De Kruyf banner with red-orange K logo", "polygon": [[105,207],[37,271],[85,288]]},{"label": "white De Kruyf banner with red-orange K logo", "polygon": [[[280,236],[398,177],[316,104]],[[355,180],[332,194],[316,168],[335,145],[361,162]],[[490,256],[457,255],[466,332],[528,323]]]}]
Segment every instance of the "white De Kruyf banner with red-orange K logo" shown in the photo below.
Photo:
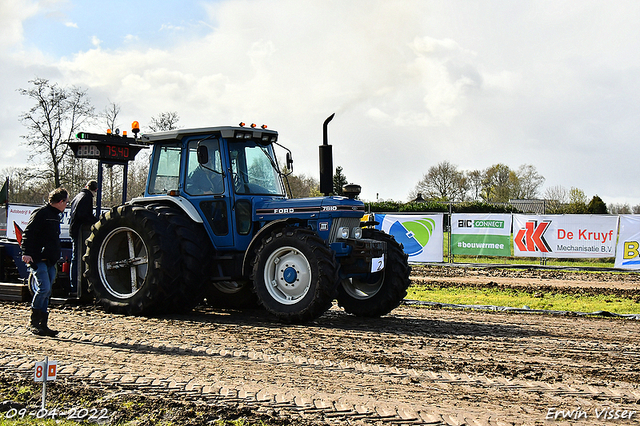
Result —
[{"label": "white De Kruyf banner with red-orange K logo", "polygon": [[521,257],[614,257],[618,216],[513,215],[513,252]]}]

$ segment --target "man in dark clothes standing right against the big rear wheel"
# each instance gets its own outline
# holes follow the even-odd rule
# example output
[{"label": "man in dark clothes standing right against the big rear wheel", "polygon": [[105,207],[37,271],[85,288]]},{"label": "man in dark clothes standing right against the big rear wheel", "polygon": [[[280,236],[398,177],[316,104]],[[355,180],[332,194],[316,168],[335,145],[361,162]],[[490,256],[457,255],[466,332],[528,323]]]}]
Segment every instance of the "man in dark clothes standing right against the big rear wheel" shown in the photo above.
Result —
[{"label": "man in dark clothes standing right against the big rear wheel", "polygon": [[84,241],[89,237],[91,225],[98,221],[93,213],[93,197],[98,192],[98,182],[90,180],[71,202],[69,234],[73,240],[71,255],[71,293],[78,294],[80,289],[79,275],[82,256],[85,252]]}]

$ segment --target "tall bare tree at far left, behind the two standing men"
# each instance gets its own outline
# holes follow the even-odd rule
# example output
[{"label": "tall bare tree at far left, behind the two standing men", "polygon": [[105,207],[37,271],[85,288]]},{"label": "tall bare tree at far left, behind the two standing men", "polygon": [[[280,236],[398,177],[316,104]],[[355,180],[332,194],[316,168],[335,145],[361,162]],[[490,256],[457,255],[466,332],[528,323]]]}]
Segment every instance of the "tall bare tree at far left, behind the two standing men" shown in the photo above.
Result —
[{"label": "tall bare tree at far left, behind the two standing men", "polygon": [[22,136],[31,148],[29,160],[39,156],[48,157],[46,173],[55,187],[62,184],[63,160],[71,156],[65,142],[71,140],[80,128],[94,119],[94,107],[90,104],[86,90],[76,86],[60,87],[44,78],[30,80],[31,89],[18,89],[21,95],[35,101],[35,105],[20,115],[28,134]]}]

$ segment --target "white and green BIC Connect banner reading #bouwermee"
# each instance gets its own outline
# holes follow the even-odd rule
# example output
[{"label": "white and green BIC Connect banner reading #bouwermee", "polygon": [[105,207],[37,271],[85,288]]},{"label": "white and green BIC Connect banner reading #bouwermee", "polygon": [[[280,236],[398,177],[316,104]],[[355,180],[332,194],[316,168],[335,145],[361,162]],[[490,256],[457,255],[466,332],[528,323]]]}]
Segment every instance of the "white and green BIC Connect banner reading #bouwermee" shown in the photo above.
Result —
[{"label": "white and green BIC Connect banner reading #bouwermee", "polygon": [[511,256],[511,214],[453,213],[451,253]]}]

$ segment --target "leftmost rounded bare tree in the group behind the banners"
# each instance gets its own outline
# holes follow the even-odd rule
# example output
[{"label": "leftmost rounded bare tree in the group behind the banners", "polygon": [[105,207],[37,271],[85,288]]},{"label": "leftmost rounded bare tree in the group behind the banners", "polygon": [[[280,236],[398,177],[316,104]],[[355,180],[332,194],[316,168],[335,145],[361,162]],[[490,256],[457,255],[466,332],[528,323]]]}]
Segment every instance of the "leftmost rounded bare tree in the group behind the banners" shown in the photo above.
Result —
[{"label": "leftmost rounded bare tree in the group behind the banners", "polygon": [[464,201],[467,193],[467,179],[458,167],[448,161],[442,161],[429,168],[418,182],[415,194],[427,199],[441,201]]}]

